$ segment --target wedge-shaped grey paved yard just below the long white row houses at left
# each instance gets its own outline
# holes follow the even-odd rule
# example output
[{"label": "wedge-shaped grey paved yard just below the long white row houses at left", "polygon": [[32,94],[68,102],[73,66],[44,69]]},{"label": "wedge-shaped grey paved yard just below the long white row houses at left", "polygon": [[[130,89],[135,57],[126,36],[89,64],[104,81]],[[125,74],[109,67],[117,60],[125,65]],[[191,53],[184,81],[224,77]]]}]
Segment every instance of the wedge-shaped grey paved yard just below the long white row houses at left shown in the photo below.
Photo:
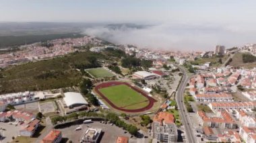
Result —
[{"label": "wedge-shaped grey paved yard just below the long white row houses at left", "polygon": [[38,102],[14,105],[15,109],[38,113]]}]

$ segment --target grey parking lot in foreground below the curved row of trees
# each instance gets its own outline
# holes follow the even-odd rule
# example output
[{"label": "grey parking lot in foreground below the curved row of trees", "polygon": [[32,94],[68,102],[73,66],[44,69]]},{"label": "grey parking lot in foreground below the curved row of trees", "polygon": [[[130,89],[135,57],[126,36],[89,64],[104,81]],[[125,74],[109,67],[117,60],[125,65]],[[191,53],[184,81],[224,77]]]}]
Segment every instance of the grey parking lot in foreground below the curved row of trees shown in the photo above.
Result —
[{"label": "grey parking lot in foreground below the curved row of trees", "polygon": [[[82,127],[82,130],[75,131],[75,128],[79,126]],[[79,142],[79,139],[82,137],[84,130],[86,130],[88,126],[92,128],[102,129],[102,132],[104,132],[104,134],[100,141],[101,143],[116,142],[118,136],[127,136],[131,138],[131,134],[125,133],[125,130],[123,130],[122,128],[119,128],[115,125],[111,126],[110,124],[102,124],[100,122],[70,126],[69,128],[63,128],[63,129],[57,129],[57,130],[61,130],[63,134],[63,138],[69,138],[69,140],[72,140],[72,142]],[[131,138],[129,142],[136,142],[136,141]]]}]

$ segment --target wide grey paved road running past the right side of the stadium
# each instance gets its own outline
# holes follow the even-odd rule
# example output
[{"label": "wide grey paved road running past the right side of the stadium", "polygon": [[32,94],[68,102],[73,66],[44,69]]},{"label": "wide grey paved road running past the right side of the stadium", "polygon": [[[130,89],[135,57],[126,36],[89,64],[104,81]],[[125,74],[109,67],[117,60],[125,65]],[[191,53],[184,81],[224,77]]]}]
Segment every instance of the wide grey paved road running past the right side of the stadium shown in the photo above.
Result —
[{"label": "wide grey paved road running past the right side of the stadium", "polygon": [[187,81],[189,81],[189,77],[186,75],[185,70],[183,68],[180,67],[180,70],[183,73],[183,79],[181,81],[181,84],[179,85],[179,89],[177,90],[175,99],[177,101],[183,126],[185,127],[185,134],[187,136],[186,140],[189,143],[193,143],[193,142],[197,142],[197,140],[195,138],[195,134],[193,131],[193,127],[192,127],[193,124],[191,124],[191,120],[189,118],[189,113],[187,113],[187,109],[183,102],[183,95],[185,92],[186,83]]}]

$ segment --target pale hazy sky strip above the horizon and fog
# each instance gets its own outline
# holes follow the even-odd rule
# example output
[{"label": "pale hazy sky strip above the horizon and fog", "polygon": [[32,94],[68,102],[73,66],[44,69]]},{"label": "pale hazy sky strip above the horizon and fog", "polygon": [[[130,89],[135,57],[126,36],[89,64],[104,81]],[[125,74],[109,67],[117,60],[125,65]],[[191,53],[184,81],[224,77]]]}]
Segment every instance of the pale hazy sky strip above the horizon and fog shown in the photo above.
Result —
[{"label": "pale hazy sky strip above the horizon and fog", "polygon": [[247,0],[0,0],[0,21],[255,22]]}]

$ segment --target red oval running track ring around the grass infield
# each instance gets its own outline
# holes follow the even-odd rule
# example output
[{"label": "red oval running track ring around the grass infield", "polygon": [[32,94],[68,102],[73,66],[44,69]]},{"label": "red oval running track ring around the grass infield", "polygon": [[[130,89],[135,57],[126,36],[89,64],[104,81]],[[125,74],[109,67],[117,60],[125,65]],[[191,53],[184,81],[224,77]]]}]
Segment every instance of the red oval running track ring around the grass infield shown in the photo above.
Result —
[{"label": "red oval running track ring around the grass infield", "polygon": [[[150,101],[150,103],[148,103],[148,105],[146,107],[142,107],[140,109],[123,109],[121,107],[117,107],[114,103],[112,103],[107,97],[104,96],[104,94],[102,94],[99,89],[104,88],[104,87],[110,87],[113,85],[127,85],[128,87],[131,87],[131,89],[137,91],[138,93],[141,93],[141,95],[143,95],[144,97],[146,97],[148,99],[148,101]],[[95,87],[95,91],[96,93],[98,93],[98,95],[100,95],[109,105],[111,105],[113,108],[118,109],[120,111],[126,111],[126,112],[141,112],[141,111],[146,111],[150,108],[153,107],[154,102],[156,102],[156,99],[149,97],[147,93],[145,93],[144,91],[141,91],[141,89],[138,89],[137,87],[133,87],[131,86],[129,83],[125,83],[125,82],[120,82],[120,81],[109,81],[106,83],[100,83],[100,85],[96,85]]]}]

